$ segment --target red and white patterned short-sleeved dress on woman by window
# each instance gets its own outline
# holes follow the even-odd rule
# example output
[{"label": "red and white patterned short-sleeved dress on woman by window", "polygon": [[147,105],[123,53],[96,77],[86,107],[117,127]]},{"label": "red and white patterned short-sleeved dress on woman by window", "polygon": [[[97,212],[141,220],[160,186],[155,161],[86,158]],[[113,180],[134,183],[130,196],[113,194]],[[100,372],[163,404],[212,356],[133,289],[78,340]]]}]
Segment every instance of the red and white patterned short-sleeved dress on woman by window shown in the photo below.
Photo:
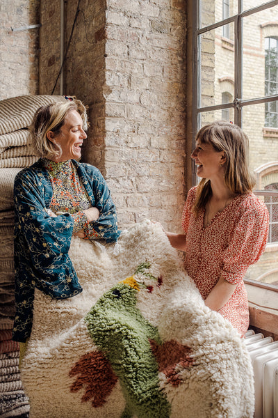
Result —
[{"label": "red and white patterned short-sleeved dress on woman by window", "polygon": [[243,278],[256,263],[268,240],[268,210],[254,194],[240,194],[204,228],[204,210],[192,212],[196,187],[188,192],[182,227],[186,233],[185,267],[206,299],[222,276],[236,290],[218,312],[243,336],[249,325],[247,292]]}]

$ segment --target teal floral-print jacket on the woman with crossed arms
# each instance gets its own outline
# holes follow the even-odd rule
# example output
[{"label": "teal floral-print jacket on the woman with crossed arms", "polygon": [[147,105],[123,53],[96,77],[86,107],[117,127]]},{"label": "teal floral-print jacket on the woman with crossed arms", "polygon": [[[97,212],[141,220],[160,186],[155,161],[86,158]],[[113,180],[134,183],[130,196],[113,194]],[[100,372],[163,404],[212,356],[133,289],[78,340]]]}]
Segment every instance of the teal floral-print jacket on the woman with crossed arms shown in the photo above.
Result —
[{"label": "teal floral-print jacket on the woman with crossed arms", "polygon": [[[99,238],[116,241],[117,215],[100,171],[72,160],[92,206],[100,216],[91,222]],[[50,217],[47,209],[53,189],[42,161],[26,167],[15,178],[15,304],[13,339],[24,342],[31,334],[35,288],[56,299],[81,293],[68,255],[74,227],[69,213]]]}]

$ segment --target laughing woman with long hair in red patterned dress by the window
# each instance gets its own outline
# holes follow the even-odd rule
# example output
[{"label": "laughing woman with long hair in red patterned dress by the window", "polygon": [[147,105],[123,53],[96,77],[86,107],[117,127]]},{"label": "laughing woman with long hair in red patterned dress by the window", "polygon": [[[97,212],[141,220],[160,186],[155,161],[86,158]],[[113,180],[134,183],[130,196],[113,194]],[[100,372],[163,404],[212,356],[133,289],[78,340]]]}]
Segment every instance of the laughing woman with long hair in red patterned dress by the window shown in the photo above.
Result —
[{"label": "laughing woman with long hair in red patterned dress by the window", "polygon": [[248,139],[237,125],[216,121],[197,133],[191,157],[199,185],[183,209],[184,234],[167,232],[186,251],[185,267],[205,303],[244,336],[249,325],[243,278],[268,239],[268,210],[253,193],[247,165]]}]

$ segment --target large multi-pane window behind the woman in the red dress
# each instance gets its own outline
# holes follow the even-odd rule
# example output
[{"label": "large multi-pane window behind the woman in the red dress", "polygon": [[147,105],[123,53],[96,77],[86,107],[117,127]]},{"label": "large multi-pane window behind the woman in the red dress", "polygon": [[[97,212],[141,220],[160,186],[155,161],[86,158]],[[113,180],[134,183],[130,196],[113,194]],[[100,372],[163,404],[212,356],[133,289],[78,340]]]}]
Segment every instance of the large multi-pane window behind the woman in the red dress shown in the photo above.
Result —
[{"label": "large multi-pane window behind the woman in the red dress", "polygon": [[[270,212],[270,235],[247,278],[254,284],[269,279],[278,291],[270,274],[278,270],[278,169],[273,169],[278,167],[278,0],[190,0],[188,6],[188,57],[193,57],[188,61],[188,155],[199,128],[212,121],[232,121],[249,137],[255,193]],[[187,167],[189,189],[199,178],[189,157]]]}]

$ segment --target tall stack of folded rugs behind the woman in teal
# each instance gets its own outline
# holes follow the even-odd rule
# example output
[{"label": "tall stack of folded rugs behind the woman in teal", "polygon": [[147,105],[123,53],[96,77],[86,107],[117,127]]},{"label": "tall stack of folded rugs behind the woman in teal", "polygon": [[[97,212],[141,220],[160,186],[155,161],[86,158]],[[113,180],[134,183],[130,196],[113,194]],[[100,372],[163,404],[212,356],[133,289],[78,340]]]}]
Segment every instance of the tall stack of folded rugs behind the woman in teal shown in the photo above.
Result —
[{"label": "tall stack of folded rugs behind the woman in teal", "polygon": [[13,183],[38,157],[28,144],[28,125],[43,104],[63,96],[19,96],[0,101],[0,417],[26,418],[28,398],[19,374],[19,344],[12,341],[15,315]]}]

